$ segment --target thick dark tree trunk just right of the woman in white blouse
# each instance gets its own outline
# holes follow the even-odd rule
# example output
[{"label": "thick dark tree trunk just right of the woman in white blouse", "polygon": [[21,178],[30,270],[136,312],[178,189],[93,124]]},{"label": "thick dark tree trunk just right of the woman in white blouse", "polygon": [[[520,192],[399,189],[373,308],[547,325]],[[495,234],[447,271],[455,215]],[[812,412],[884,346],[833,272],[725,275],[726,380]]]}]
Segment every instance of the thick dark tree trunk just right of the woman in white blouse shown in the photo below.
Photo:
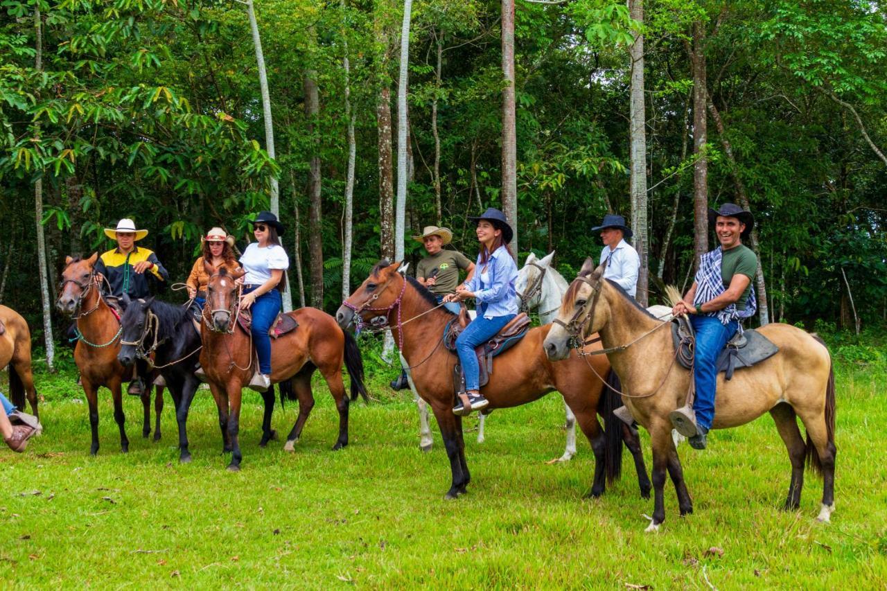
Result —
[{"label": "thick dark tree trunk just right of the woman in white blouse", "polygon": [[323,245],[323,210],[320,203],[320,142],[315,138],[315,124],[320,112],[318,83],[314,78],[316,72],[305,72],[305,116],[308,120],[308,134],[314,144],[308,173],[308,250],[311,272],[311,305],[318,309],[324,307],[324,245]]}]

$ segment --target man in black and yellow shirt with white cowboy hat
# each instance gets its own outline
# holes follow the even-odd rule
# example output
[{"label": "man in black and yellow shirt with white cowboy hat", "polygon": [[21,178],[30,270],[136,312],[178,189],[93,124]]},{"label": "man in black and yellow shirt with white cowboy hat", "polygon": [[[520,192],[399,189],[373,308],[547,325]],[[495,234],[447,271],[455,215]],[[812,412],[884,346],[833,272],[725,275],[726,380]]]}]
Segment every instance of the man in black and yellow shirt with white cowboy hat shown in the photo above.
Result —
[{"label": "man in black and yellow shirt with white cowboy hat", "polygon": [[[153,250],[136,246],[136,242],[145,238],[148,231],[137,230],[130,218],[122,218],[115,228],[105,228],[105,235],[117,242],[117,248],[98,257],[96,279],[99,286],[107,280],[112,296],[122,297],[126,294],[130,298],[147,297],[151,295],[147,279],[149,276],[158,281],[169,280],[169,272],[157,260]],[[138,376],[130,382],[127,391],[133,396],[141,396],[145,391],[145,383],[141,378],[144,368],[140,368],[138,364],[136,366]]]}]

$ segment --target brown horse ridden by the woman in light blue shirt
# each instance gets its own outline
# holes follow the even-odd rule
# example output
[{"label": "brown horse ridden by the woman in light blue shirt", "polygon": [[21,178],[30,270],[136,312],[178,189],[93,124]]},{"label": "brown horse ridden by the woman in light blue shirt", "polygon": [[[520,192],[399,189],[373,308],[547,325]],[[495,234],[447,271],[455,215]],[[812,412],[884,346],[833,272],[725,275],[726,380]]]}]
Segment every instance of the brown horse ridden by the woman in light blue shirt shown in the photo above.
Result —
[{"label": "brown horse ridden by the woman in light blue shirt", "polygon": [[[431,406],[441,429],[452,472],[452,485],[446,498],[454,499],[466,492],[471,479],[465,461],[462,418],[452,413],[452,374],[457,358],[442,345],[444,330],[455,316],[438,307],[431,292],[416,280],[405,278],[398,272],[398,267],[399,264],[389,264],[388,261],[377,264],[363,284],[341,305],[336,319],[340,327],[378,317],[387,319],[396,343],[401,345],[404,359],[411,366],[412,382],[420,397]],[[608,375],[607,359],[595,357],[589,361],[589,366],[585,359],[573,354],[562,363],[549,362],[542,351],[542,341],[550,329],[550,326],[530,328],[519,343],[497,357],[493,364],[494,374],[481,389],[483,396],[490,401],[488,408],[520,406],[542,398],[548,392],[560,391],[592,444],[595,468],[588,495],[599,496],[604,492],[605,481],[619,476],[621,439],[624,437],[634,456],[640,492],[647,498],[650,481],[637,434],[627,426],[624,429],[616,426],[616,423],[622,423],[612,416],[612,408],[606,412],[605,402],[612,402],[614,397],[601,395],[603,383],[591,369],[593,366],[598,374]],[[621,406],[618,402],[616,405]],[[597,419],[599,412],[607,421],[606,437]]]}]

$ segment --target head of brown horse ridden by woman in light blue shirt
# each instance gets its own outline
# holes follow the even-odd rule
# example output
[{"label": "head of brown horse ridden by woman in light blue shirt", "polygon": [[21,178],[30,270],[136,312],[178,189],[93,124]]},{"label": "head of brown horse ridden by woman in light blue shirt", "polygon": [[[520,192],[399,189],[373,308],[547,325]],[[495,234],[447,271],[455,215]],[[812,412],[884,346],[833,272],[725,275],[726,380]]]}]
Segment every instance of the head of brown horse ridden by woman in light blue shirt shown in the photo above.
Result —
[{"label": "head of brown horse ridden by woman in light blue shirt", "polygon": [[335,313],[336,322],[342,329],[352,324],[359,327],[370,319],[387,316],[400,303],[406,280],[401,274],[401,263],[389,263],[382,259],[370,276],[345,300]]}]

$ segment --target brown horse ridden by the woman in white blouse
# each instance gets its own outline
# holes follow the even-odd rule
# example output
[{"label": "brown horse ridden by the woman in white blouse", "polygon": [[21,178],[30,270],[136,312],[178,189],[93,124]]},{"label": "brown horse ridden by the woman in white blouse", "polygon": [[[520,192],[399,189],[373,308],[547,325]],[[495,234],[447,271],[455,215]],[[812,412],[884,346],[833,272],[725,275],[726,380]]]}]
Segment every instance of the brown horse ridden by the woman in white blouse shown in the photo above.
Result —
[{"label": "brown horse ridden by the woman in white blouse", "polygon": [[[214,274],[215,273],[215,274]],[[230,274],[224,268],[216,273],[207,267],[210,276],[207,286],[207,303],[203,309],[200,336],[200,366],[207,374],[209,390],[216,399],[219,427],[222,429],[224,452],[232,452],[228,469],[240,469],[242,454],[238,439],[240,423],[240,396],[244,384],[249,383],[255,370],[255,352],[252,337],[239,327],[239,284],[243,276],[240,270]],[[288,312],[299,324],[294,331],[272,339],[271,383],[290,382],[299,401],[299,416],[287,436],[284,449],[294,451],[294,444],[302,435],[302,427],[314,406],[311,393],[311,374],[316,369],[324,376],[339,411],[339,437],[334,450],[348,445],[349,398],[341,379],[341,366],[351,376],[351,400],[361,395],[366,399],[364,387],[364,363],[354,337],[336,326],[332,316],[315,308],[302,308]],[[281,394],[282,398],[282,394]],[[271,411],[274,395],[271,390],[263,393],[265,411],[263,437],[260,445],[266,445],[275,433],[271,429]]]}]

